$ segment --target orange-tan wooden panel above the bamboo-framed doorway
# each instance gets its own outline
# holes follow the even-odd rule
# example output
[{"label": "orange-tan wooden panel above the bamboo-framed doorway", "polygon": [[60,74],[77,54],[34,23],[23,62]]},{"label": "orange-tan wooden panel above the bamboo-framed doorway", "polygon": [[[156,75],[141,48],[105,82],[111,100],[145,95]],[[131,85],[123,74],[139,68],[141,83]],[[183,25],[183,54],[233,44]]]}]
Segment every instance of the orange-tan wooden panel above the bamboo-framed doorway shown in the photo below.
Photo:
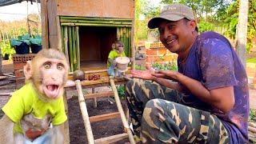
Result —
[{"label": "orange-tan wooden panel above the bamboo-framed doorway", "polygon": [[134,18],[134,0],[56,0],[58,15]]}]

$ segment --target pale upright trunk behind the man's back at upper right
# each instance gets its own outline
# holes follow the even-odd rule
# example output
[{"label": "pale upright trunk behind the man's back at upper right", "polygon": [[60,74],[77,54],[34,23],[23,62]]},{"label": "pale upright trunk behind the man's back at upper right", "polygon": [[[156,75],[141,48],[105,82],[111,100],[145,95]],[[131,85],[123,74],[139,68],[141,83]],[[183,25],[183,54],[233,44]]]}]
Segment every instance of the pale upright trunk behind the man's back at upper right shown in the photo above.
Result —
[{"label": "pale upright trunk behind the man's back at upper right", "polygon": [[247,20],[248,20],[248,0],[240,0],[239,16],[237,26],[237,45],[236,52],[243,66],[246,67],[246,38],[247,38]]}]

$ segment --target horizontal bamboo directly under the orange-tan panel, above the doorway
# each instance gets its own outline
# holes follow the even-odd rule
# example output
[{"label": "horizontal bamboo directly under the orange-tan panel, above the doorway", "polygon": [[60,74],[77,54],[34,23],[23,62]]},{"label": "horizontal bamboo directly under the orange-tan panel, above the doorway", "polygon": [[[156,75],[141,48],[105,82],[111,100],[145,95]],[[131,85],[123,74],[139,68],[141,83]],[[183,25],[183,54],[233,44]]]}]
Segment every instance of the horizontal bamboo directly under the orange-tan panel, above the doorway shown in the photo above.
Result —
[{"label": "horizontal bamboo directly under the orange-tan panel, above the doorway", "polygon": [[66,20],[61,19],[62,23],[98,23],[98,24],[115,24],[115,25],[132,25],[132,22],[116,22],[116,21],[85,21],[85,20],[78,20],[78,19],[72,19],[72,20]]}]

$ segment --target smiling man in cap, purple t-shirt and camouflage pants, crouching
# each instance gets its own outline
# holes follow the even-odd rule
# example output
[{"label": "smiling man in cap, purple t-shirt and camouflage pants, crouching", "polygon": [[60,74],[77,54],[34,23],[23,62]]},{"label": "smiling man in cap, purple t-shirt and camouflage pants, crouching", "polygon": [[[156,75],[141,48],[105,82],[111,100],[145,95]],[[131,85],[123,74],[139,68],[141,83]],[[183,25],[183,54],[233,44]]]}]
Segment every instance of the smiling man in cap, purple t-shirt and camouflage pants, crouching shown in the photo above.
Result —
[{"label": "smiling man in cap, purple t-shirt and camouflage pants, crouching", "polygon": [[198,34],[193,11],[182,4],[164,7],[148,26],[178,54],[178,71],[131,70],[126,98],[134,133],[143,143],[248,142],[246,70],[230,42]]}]

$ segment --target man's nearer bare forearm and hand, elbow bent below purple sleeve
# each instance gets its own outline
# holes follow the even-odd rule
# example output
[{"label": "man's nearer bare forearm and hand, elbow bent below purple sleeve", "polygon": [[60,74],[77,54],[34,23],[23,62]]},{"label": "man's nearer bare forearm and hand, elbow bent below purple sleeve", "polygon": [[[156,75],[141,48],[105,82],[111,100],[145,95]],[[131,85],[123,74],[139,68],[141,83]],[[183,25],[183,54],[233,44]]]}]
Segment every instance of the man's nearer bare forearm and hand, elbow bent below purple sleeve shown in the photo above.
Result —
[{"label": "man's nearer bare forearm and hand, elbow bent below purple sleeve", "polygon": [[[202,100],[202,102],[206,102],[211,106],[217,107],[224,113],[229,112],[234,106],[233,86],[226,86],[213,90],[207,90],[205,86],[202,86],[201,82],[198,82],[197,80],[189,78],[176,71],[159,70],[158,74],[153,75],[158,77],[155,78],[155,81],[161,84],[162,86],[166,86],[174,90],[179,90],[181,92],[184,90],[190,90],[190,92],[194,94],[197,98]],[[166,76],[182,83],[182,85],[185,86],[185,88],[179,86],[178,83],[171,83],[169,82],[169,80],[166,80],[165,78],[159,78]]]}]

